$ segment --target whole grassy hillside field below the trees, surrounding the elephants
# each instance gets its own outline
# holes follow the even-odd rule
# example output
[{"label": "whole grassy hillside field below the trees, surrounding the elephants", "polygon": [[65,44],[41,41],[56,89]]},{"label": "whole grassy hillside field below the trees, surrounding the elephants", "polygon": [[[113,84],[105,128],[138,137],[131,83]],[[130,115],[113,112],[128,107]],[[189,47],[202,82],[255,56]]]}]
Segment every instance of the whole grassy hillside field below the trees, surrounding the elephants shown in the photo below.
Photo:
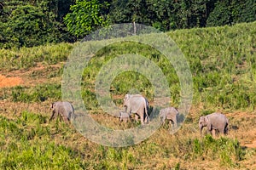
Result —
[{"label": "whole grassy hillside field below the trees, surrounding the elephants", "polygon": [[[0,168],[256,169],[255,27],[253,22],[167,32],[181,48],[193,76],[189,115],[177,133],[160,127],[142,143],[123,148],[93,143],[72,125],[49,122],[49,105],[61,100],[64,65],[78,43],[0,49]],[[117,129],[138,126],[119,123],[96,100],[97,73],[120,54],[140,54],[154,61],[170,84],[171,105],[179,104],[177,73],[160,52],[144,44],[115,43],[98,51],[83,72],[84,105],[97,122]],[[134,71],[114,78],[113,102],[121,107],[125,94],[132,90],[154,105],[152,83]],[[213,111],[229,118],[230,132],[218,139],[201,138],[198,119]]]}]

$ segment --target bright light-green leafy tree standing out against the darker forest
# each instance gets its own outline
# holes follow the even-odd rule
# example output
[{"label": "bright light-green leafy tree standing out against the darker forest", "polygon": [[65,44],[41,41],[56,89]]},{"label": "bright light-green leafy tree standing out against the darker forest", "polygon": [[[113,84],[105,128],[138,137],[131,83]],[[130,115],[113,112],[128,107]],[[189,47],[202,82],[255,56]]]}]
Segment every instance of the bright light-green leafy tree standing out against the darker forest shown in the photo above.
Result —
[{"label": "bright light-green leafy tree standing out against the darker forest", "polygon": [[84,37],[98,27],[108,25],[105,14],[107,9],[108,2],[77,0],[70,8],[72,13],[65,16],[64,23],[74,36]]}]

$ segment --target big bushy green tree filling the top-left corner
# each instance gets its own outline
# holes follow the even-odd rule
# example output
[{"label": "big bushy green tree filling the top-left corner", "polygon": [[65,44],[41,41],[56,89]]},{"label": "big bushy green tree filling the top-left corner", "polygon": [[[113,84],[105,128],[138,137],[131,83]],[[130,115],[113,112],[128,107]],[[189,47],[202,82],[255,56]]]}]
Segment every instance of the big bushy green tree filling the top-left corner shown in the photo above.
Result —
[{"label": "big bushy green tree filling the top-left corner", "polygon": [[56,21],[55,1],[9,0],[0,3],[0,48],[71,40],[64,25]]}]

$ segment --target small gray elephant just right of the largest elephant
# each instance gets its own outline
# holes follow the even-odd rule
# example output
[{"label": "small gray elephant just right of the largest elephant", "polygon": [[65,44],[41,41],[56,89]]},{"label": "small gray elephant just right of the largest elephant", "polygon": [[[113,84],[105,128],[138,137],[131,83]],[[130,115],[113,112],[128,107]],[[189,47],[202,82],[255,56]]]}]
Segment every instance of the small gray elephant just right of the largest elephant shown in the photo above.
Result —
[{"label": "small gray elephant just right of the largest elephant", "polygon": [[160,110],[160,120],[164,124],[166,122],[166,119],[169,121],[170,125],[174,125],[174,127],[177,127],[177,116],[178,111],[174,107],[167,107],[165,109]]}]

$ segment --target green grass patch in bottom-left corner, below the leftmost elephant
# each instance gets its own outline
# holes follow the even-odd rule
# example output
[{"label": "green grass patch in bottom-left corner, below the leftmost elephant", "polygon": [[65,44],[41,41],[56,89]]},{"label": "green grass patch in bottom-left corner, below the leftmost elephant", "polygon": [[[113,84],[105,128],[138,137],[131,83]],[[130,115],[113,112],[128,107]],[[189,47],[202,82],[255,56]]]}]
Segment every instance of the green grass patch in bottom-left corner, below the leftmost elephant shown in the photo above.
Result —
[{"label": "green grass patch in bottom-left corner, below the leftmost elephant", "polygon": [[79,152],[52,141],[53,132],[44,126],[46,119],[27,111],[17,120],[0,116],[1,169],[84,168]]}]

